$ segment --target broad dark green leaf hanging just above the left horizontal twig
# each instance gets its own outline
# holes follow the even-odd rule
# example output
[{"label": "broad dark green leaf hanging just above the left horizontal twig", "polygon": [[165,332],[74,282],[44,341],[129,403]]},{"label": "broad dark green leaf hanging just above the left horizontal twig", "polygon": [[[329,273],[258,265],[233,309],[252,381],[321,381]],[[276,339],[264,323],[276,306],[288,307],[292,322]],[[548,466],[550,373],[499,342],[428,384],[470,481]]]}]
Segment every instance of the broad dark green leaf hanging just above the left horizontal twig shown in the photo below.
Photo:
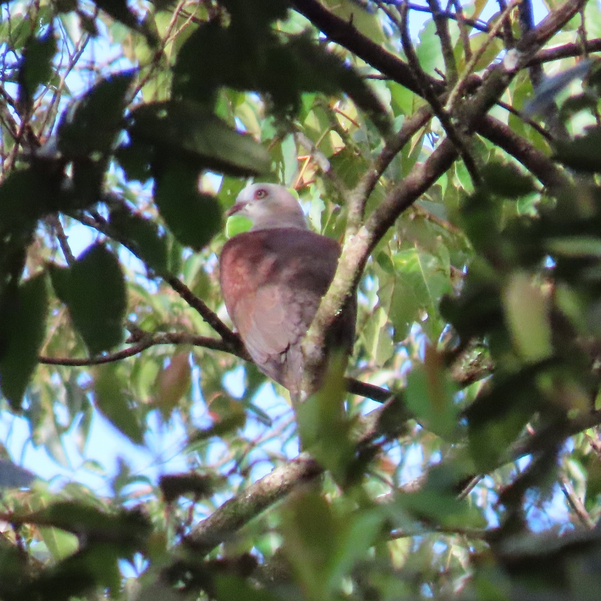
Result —
[{"label": "broad dark green leaf hanging just above the left horizontal twig", "polygon": [[119,261],[102,244],[88,247],[70,267],[50,267],[56,296],[91,355],[123,341],[126,288]]}]

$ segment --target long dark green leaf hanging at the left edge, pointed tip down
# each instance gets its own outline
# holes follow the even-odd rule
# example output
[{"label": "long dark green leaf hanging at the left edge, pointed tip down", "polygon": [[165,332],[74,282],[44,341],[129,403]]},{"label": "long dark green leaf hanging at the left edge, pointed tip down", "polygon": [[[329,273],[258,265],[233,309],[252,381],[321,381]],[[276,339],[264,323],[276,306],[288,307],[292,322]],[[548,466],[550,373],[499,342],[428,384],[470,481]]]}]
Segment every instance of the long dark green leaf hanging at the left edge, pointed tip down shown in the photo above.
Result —
[{"label": "long dark green leaf hanging at the left edge, pointed tip down", "polygon": [[0,389],[13,409],[20,409],[38,363],[46,334],[46,296],[46,274],[40,273],[0,297]]}]

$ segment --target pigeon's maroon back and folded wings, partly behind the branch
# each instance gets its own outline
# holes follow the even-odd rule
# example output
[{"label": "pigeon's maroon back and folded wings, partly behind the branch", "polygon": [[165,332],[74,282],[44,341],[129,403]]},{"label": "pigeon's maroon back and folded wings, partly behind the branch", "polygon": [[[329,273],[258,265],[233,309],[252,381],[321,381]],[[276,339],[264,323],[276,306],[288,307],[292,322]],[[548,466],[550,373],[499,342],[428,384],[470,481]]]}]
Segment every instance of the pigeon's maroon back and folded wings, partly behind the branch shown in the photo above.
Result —
[{"label": "pigeon's maroon back and folded wings, partly behind the branch", "polygon": [[[290,392],[301,385],[301,343],[328,290],[340,245],[309,230],[249,231],[225,243],[219,279],[228,314],[258,368]],[[331,332],[332,344],[350,349],[356,303]]]}]

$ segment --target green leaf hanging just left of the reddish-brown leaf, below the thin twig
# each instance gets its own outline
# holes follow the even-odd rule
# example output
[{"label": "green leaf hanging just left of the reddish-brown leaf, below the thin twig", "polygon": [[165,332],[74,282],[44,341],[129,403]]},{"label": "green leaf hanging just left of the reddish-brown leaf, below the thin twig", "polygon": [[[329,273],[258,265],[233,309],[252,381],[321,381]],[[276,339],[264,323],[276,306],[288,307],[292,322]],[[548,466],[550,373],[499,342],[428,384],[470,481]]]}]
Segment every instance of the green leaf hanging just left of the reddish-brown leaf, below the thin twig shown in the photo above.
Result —
[{"label": "green leaf hanging just left of the reddish-brown leaf, below the thin twig", "polygon": [[144,444],[144,429],[129,404],[127,384],[119,367],[105,364],[94,374],[94,399],[100,413],[137,445]]}]

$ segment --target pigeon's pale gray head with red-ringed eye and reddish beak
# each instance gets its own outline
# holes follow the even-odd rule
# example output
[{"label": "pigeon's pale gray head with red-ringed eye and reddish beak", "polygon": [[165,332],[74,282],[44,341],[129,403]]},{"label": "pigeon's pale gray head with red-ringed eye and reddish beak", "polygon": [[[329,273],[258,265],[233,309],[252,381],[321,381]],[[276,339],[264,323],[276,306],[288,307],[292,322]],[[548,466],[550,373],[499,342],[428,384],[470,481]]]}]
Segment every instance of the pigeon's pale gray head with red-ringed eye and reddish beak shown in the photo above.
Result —
[{"label": "pigeon's pale gray head with red-ringed eye and reddish beak", "polygon": [[246,186],[227,215],[243,215],[252,221],[253,230],[290,227],[307,230],[301,205],[284,186],[258,183]]}]

